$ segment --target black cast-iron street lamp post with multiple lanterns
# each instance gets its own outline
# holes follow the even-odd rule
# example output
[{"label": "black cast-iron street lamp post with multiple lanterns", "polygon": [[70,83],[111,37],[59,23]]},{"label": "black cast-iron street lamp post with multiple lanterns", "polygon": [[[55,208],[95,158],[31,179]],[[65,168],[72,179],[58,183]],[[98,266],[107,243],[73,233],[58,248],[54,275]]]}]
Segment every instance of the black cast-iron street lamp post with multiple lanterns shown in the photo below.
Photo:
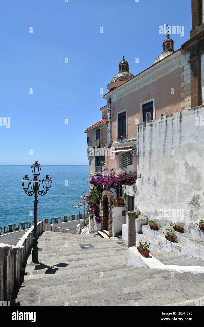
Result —
[{"label": "black cast-iron street lamp post with multiple lanterns", "polygon": [[[22,186],[24,191],[28,196],[35,196],[34,199],[34,231],[33,231],[33,247],[32,247],[32,262],[37,264],[38,263],[38,235],[37,235],[37,212],[38,212],[38,194],[39,195],[46,195],[47,191],[50,189],[52,180],[49,177],[49,175],[46,175],[44,179],[42,180],[43,188],[45,189],[40,191],[40,180],[38,176],[40,175],[41,165],[35,161],[35,163],[31,166],[33,178],[29,180],[28,175],[25,175],[25,177],[22,179]],[[31,190],[29,190],[29,187]]]}]

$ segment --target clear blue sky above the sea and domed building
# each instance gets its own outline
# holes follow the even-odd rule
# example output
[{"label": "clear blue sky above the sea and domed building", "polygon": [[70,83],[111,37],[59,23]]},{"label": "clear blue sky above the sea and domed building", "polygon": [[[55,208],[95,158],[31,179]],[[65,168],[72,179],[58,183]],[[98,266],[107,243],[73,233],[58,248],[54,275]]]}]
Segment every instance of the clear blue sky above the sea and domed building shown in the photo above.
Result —
[{"label": "clear blue sky above the sea and domed building", "polygon": [[134,75],[152,65],[165,23],[185,26],[171,35],[177,50],[190,38],[191,0],[2,0],[0,117],[10,128],[0,126],[0,164],[88,164],[84,129],[101,119],[100,89],[122,56]]}]

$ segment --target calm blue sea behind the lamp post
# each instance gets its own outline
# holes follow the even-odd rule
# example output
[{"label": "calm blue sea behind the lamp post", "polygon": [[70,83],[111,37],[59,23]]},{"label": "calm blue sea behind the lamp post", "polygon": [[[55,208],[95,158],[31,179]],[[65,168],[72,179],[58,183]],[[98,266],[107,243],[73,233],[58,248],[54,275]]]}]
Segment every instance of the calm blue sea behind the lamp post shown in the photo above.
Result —
[{"label": "calm blue sea behind the lamp post", "polygon": [[[29,165],[0,165],[1,227],[34,219],[34,196],[29,197],[22,188],[21,180],[25,174],[30,179],[33,176]],[[83,191],[88,192],[88,165],[43,165],[40,180],[46,174],[51,177],[52,185],[45,196],[38,196],[38,220],[77,215],[79,211],[72,205],[81,200]],[[68,181],[68,186],[65,186],[65,181]],[[30,211],[33,211],[33,216],[30,216]]]}]

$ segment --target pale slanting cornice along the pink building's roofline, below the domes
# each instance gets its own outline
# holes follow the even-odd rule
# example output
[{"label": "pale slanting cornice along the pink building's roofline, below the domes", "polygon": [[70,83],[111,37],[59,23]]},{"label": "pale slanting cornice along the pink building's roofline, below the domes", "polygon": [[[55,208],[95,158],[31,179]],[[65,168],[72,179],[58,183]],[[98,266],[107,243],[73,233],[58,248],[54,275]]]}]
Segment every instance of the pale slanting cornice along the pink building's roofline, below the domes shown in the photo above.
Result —
[{"label": "pale slanting cornice along the pink building's roofline, below the domes", "polygon": [[111,102],[114,102],[122,98],[123,96],[135,92],[140,88],[144,87],[145,85],[148,85],[153,81],[156,81],[159,78],[172,73],[176,69],[187,64],[188,60],[189,51],[180,48],[168,57],[160,60],[153,66],[147,68],[143,72],[131,78],[129,81],[118,86],[116,89],[103,95],[103,97],[105,99],[111,97]]}]

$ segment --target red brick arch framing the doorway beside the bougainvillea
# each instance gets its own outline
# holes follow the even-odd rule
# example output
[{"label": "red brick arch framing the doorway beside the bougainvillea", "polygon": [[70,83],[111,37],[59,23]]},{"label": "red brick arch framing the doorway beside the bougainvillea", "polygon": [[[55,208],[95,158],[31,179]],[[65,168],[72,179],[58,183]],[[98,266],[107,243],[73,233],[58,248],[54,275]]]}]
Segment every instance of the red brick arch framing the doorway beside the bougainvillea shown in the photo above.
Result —
[{"label": "red brick arch framing the doorway beside the bougainvillea", "polygon": [[105,197],[108,198],[108,233],[111,236],[111,229],[112,229],[111,201],[114,201],[115,197],[111,190],[104,190],[102,192],[101,195],[101,209],[102,209],[101,228],[102,229],[105,229]]}]

